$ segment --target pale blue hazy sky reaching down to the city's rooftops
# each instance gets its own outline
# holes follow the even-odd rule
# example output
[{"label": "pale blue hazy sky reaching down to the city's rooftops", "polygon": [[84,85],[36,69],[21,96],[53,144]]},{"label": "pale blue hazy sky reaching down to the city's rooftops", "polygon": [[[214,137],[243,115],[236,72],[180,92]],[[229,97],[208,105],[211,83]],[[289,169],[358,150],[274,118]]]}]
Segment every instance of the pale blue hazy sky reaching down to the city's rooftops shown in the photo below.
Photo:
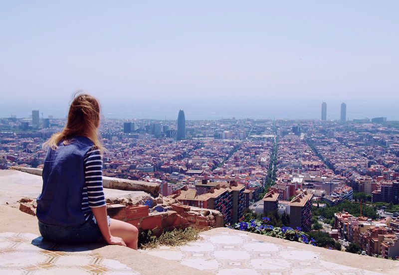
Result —
[{"label": "pale blue hazy sky reaching down to the city's rooftops", "polygon": [[350,119],[399,119],[398,12],[398,0],[2,0],[0,116],[66,114],[84,89],[110,117],[319,118],[326,101],[330,118],[346,102]]}]

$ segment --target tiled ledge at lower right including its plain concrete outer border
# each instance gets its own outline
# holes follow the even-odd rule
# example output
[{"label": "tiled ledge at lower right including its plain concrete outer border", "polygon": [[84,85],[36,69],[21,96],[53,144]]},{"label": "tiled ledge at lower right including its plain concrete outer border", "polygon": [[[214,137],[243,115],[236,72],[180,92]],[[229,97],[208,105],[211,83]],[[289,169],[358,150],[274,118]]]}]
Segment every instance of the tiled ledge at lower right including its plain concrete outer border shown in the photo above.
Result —
[{"label": "tiled ledge at lower right including its plain concrete outer border", "polygon": [[214,274],[399,274],[399,262],[290,242],[228,228],[184,246],[143,251]]}]

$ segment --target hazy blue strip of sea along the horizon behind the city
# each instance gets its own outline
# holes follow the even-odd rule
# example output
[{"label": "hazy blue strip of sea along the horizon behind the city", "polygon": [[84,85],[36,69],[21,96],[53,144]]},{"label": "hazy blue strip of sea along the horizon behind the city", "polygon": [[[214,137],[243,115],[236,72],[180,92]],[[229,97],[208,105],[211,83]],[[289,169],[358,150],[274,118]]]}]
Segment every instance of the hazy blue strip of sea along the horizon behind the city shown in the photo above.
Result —
[{"label": "hazy blue strip of sea along the horizon behind the city", "polygon": [[[340,101],[327,101],[327,120],[340,119]],[[397,104],[392,101],[345,101],[347,120],[387,117],[388,121],[399,120]],[[290,119],[320,120],[322,102],[273,101],[273,100],[125,100],[102,101],[102,113],[106,119],[152,119],[175,120],[180,109],[187,120],[220,119]],[[0,117],[16,116],[28,118],[32,110],[39,110],[40,117],[65,118],[68,102],[65,100],[2,100]]]}]

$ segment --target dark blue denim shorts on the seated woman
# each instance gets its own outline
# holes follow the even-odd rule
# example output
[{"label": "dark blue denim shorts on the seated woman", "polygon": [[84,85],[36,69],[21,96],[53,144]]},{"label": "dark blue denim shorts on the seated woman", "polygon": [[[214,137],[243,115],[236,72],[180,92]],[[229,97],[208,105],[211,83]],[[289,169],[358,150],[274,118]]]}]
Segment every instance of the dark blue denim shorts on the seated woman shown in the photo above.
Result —
[{"label": "dark blue denim shorts on the seated woman", "polygon": [[[107,216],[108,226],[110,217]],[[39,231],[44,240],[58,244],[89,244],[104,242],[103,235],[94,218],[80,225],[50,225],[39,221]]]}]

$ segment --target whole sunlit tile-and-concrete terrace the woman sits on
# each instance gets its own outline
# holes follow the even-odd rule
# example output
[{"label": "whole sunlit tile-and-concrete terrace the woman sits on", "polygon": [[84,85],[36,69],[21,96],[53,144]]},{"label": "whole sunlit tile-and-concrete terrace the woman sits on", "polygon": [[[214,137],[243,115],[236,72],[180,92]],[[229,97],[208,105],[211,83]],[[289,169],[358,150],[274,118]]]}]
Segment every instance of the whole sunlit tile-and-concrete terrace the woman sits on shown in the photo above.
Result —
[{"label": "whole sunlit tile-and-concrete terrace the woman sits on", "polygon": [[[40,177],[0,170],[0,274],[399,274],[399,262],[216,228],[180,247],[61,246],[44,242],[36,217],[16,200],[40,192]],[[118,192],[127,191],[106,190]],[[8,203],[8,204],[6,204]]]}]

